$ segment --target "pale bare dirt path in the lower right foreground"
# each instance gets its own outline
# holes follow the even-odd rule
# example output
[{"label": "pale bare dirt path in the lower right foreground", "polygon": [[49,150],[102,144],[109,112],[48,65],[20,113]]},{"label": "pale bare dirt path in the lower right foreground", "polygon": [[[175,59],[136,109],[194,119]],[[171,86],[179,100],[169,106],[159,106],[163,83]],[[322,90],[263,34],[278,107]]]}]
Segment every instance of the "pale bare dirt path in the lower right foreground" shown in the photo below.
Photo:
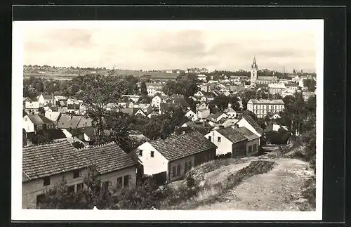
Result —
[{"label": "pale bare dirt path in the lower right foreground", "polygon": [[220,202],[200,206],[197,209],[299,210],[299,202],[305,202],[301,198],[300,190],[303,183],[313,175],[313,171],[306,162],[300,160],[274,159],[274,161],[277,162],[277,166],[267,174],[252,176],[225,193]]}]

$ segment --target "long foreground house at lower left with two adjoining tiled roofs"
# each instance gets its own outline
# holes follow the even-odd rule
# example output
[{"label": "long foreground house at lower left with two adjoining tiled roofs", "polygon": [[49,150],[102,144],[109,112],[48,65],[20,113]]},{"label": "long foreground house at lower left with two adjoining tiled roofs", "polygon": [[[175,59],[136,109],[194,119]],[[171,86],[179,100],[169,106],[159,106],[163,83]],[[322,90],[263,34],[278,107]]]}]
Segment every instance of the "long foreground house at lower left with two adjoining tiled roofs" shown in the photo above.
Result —
[{"label": "long foreground house at lower left with two adjoining tiled roofs", "polygon": [[76,149],[60,141],[25,147],[22,156],[22,209],[39,208],[45,191],[63,177],[68,193],[86,188],[84,177],[90,164],[95,165],[104,188],[135,186],[136,163],[115,143]]}]

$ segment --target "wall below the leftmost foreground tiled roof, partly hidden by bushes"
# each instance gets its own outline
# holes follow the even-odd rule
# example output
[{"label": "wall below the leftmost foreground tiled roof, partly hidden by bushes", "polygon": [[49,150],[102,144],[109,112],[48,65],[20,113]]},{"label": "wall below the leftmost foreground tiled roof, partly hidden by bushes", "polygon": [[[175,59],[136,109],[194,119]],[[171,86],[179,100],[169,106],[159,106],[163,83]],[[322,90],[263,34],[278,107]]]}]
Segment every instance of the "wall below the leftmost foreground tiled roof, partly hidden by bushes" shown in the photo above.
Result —
[{"label": "wall below the leftmost foreground tiled roof, partly hidden by bushes", "polygon": [[44,186],[44,178],[22,182],[22,208],[36,208],[37,195],[54,188],[55,185],[62,181],[62,177],[67,181],[67,186],[74,185],[74,190],[77,191],[77,184],[84,182],[85,174],[86,169],[81,169],[81,177],[77,179],[73,179],[73,171],[68,171],[65,174],[55,174],[50,176],[50,185],[48,186]]}]

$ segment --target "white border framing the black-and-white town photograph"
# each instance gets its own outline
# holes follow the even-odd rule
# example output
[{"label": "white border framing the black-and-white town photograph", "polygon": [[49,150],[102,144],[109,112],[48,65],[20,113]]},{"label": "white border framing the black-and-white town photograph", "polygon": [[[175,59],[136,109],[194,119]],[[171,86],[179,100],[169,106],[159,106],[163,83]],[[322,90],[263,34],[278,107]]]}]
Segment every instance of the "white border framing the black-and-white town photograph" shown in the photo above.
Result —
[{"label": "white border framing the black-and-white town photograph", "polygon": [[[316,73],[317,73],[317,113],[316,113],[316,210],[313,212],[273,212],[273,211],[129,211],[129,210],[63,210],[63,209],[22,209],[22,96],[23,96],[23,56],[25,27],[57,28],[111,28],[133,29],[156,26],[162,30],[199,27],[220,29],[235,27],[240,30],[249,24],[260,27],[260,23],[287,23],[291,20],[139,20],[139,21],[14,21],[13,22],[13,75],[12,75],[12,150],[11,150],[11,219],[13,221],[296,221],[322,220],[323,186],[323,81],[324,81],[324,20],[300,20],[301,28],[307,25],[317,31]],[[295,20],[296,21],[296,20]],[[288,26],[288,25],[287,25]],[[274,27],[274,25],[272,25]]]}]

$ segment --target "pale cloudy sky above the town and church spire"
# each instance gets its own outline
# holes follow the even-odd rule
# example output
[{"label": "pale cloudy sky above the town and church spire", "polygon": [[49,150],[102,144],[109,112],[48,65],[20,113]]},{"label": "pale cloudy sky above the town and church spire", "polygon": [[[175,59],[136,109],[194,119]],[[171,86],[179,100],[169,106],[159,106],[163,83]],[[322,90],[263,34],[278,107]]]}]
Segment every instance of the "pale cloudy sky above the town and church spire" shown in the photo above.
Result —
[{"label": "pale cloudy sky above the town and church spire", "polygon": [[315,72],[315,21],[27,22],[24,64],[235,71],[256,56],[259,69]]}]

